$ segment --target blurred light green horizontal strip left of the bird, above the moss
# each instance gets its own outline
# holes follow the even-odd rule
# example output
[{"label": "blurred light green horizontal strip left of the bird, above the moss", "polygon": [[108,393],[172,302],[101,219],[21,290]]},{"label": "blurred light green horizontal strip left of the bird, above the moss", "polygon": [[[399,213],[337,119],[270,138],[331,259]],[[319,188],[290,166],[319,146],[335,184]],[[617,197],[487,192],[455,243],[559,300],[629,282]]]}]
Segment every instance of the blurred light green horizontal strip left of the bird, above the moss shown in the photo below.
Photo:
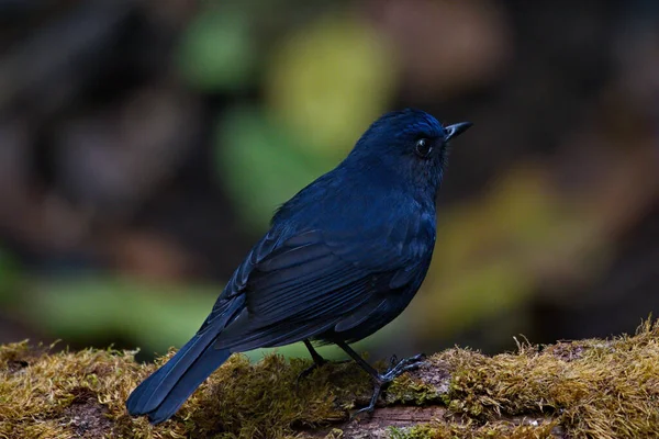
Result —
[{"label": "blurred light green horizontal strip left of the bird, above the moss", "polygon": [[217,293],[214,285],[154,284],[101,275],[45,278],[35,289],[30,318],[42,329],[90,342],[113,334],[158,352],[185,344]]}]

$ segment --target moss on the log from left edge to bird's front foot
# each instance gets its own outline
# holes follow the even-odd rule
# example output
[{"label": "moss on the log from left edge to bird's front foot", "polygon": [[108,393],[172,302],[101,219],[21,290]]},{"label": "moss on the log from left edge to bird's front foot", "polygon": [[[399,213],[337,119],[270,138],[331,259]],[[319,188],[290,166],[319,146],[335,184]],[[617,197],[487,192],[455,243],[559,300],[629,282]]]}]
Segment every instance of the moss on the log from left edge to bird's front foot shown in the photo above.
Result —
[{"label": "moss on the log from left edge to bird's front foot", "polygon": [[97,437],[92,434],[98,428],[70,421],[74,412],[83,419],[96,416],[94,427],[102,424],[103,434],[115,437],[287,437],[347,419],[357,395],[370,391],[368,378],[355,364],[325,367],[295,389],[295,378],[308,365],[280,356],[250,364],[245,356],[233,356],[174,421],[154,428],[124,408],[131,390],[155,370],[135,363],[132,352],[47,354],[25,342],[0,346],[0,438]]}]

